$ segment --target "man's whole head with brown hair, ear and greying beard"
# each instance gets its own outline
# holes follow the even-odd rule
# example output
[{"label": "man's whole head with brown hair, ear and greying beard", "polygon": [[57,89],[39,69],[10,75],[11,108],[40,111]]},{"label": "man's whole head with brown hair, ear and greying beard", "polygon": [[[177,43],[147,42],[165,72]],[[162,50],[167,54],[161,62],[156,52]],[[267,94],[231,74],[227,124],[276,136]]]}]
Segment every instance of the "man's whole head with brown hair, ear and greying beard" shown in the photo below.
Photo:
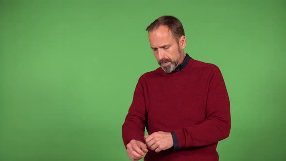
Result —
[{"label": "man's whole head with brown hair, ear and greying beard", "polygon": [[161,16],[146,29],[158,64],[171,73],[185,58],[186,37],[182,23],[174,16]]}]

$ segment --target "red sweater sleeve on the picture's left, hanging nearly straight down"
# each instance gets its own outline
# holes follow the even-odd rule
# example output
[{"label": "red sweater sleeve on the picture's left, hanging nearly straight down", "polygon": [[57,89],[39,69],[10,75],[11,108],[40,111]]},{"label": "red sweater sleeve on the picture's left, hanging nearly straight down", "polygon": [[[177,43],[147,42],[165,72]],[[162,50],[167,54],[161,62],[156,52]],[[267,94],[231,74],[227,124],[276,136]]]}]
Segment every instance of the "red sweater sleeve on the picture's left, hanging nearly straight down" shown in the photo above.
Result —
[{"label": "red sweater sleeve on the picture's left, hanging nearly straight down", "polygon": [[144,130],[146,122],[146,106],[143,91],[143,76],[140,77],[133,95],[131,106],[122,126],[122,138],[126,146],[132,139],[145,143]]}]

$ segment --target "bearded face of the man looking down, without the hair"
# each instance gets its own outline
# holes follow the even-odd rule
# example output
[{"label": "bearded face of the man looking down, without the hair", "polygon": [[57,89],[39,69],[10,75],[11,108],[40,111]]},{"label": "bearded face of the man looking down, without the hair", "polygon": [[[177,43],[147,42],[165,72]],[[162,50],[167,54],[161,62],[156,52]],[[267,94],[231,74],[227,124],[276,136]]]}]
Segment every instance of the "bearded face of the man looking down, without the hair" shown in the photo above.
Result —
[{"label": "bearded face of the man looking down, without the hair", "polygon": [[171,73],[182,63],[181,48],[167,26],[161,25],[150,31],[149,41],[158,64],[166,73]]}]

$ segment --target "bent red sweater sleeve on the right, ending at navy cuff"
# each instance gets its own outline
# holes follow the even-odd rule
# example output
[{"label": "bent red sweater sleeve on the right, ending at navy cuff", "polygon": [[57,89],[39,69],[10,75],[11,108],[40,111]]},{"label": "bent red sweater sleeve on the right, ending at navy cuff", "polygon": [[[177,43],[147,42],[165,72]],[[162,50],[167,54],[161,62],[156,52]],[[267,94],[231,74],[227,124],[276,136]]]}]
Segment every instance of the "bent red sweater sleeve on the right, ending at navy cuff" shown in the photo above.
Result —
[{"label": "bent red sweater sleeve on the right, ending at navy cuff", "polygon": [[208,87],[206,120],[174,130],[179,148],[204,146],[229,136],[230,103],[220,69],[215,66]]}]

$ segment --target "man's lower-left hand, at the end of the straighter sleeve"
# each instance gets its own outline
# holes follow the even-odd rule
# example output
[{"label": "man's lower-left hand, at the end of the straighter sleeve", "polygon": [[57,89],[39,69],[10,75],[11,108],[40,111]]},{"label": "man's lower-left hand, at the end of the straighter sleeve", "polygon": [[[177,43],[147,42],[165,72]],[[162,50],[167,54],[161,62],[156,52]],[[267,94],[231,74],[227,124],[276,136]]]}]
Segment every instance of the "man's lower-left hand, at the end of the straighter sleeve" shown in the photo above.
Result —
[{"label": "man's lower-left hand, at the end of the straighter sleeve", "polygon": [[138,161],[144,157],[144,153],[147,153],[147,146],[138,140],[131,140],[127,145],[127,156],[131,161]]}]

